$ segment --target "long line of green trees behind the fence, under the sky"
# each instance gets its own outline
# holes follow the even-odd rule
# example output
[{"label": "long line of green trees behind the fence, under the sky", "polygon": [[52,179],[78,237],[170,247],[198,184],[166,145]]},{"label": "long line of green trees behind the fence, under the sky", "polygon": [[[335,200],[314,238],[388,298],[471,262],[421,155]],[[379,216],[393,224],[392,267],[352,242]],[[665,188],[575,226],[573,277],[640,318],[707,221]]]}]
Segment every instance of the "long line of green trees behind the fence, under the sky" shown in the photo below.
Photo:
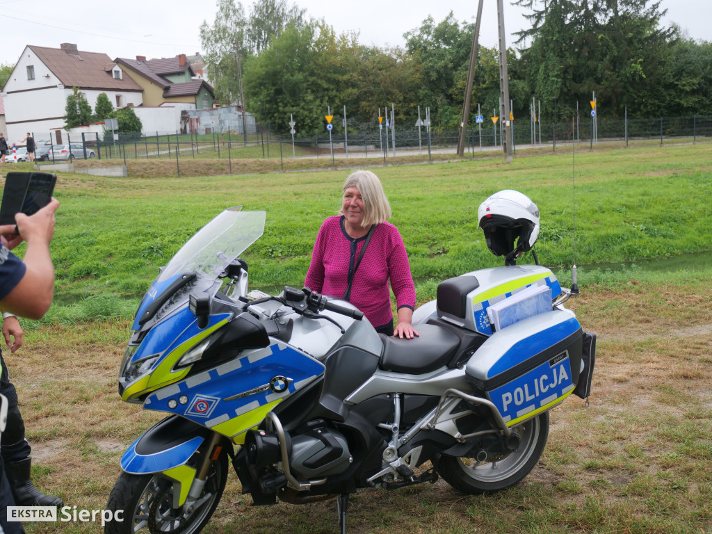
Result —
[{"label": "long line of green trees behind the fence, under the sky", "polygon": [[[507,51],[515,118],[535,111],[570,118],[595,93],[605,117],[712,115],[712,43],[661,26],[666,11],[651,0],[513,0],[530,27]],[[337,35],[286,0],[259,0],[249,14],[218,0],[214,24],[200,30],[216,98],[241,104],[277,132],[290,117],[301,132],[325,131],[326,110],[349,125],[377,127],[379,108],[415,120],[430,108],[434,128],[459,128],[475,23],[428,16],[404,34],[405,46],[378,48],[358,34]],[[240,61],[236,61],[239,54]],[[499,108],[499,53],[479,46],[470,123]],[[240,68],[239,68],[240,67]],[[241,82],[241,84],[240,84]],[[241,85],[241,86],[240,86]],[[557,115],[557,117],[554,116]],[[342,130],[340,120],[333,121]]]}]

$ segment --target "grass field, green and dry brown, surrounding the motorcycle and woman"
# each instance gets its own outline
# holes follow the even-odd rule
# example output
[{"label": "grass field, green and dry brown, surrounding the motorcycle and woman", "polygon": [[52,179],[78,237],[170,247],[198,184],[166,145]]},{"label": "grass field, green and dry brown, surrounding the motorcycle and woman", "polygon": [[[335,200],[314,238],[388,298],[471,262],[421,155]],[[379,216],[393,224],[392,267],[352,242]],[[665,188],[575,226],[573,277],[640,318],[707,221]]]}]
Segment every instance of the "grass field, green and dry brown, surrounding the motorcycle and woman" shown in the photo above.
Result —
[{"label": "grass field, green and dry brown, surrounding the motorcycle and woman", "polygon": [[[494,496],[464,496],[444,481],[360,491],[349,532],[712,532],[712,268],[587,268],[709,251],[711,156],[711,147],[690,145],[577,153],[575,163],[557,152],[511,165],[374,168],[419,302],[433,298],[443,278],[501,263],[476,222],[477,206],[498,189],[518,189],[538,204],[540,261],[570,283],[575,191],[582,295],[570,307],[597,333],[598,360],[590,406],[575,399],[553,410],[543,458],[519,486]],[[221,209],[243,204],[268,214],[265,236],[246,255],[252,285],[299,286],[347,174],[60,176],[57,303],[46,320],[23,322],[25,345],[7,356],[38,486],[68,506],[103,508],[122,451],[159,418],[122,404],[116,392],[129,318],[157,268]],[[250,503],[233,476],[206,533],[337,531],[335,501]],[[101,531],[94,523],[26,526],[30,534]]]}]

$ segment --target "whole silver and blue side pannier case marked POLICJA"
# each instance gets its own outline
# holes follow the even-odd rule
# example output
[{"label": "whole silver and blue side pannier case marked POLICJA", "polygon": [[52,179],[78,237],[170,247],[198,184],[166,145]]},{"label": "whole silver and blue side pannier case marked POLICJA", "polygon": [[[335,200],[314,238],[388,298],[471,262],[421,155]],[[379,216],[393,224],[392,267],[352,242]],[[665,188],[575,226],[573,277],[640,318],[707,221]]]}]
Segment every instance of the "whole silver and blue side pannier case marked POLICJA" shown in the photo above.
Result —
[{"label": "whole silver and blue side pannier case marked POLICJA", "polygon": [[583,330],[575,315],[554,309],[502,328],[466,365],[478,397],[489,399],[508,426],[560,404],[581,370]]}]

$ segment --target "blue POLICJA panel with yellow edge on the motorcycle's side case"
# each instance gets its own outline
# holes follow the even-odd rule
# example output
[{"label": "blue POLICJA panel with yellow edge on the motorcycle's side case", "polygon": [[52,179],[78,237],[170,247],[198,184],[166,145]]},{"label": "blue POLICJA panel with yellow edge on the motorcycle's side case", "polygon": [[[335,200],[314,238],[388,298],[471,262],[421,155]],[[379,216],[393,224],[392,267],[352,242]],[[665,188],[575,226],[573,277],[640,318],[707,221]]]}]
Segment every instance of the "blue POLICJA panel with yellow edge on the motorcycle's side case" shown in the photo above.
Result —
[{"label": "blue POLICJA panel with yellow edge on the motorcycle's side case", "polygon": [[508,426],[545,412],[574,389],[567,351],[489,392]]}]

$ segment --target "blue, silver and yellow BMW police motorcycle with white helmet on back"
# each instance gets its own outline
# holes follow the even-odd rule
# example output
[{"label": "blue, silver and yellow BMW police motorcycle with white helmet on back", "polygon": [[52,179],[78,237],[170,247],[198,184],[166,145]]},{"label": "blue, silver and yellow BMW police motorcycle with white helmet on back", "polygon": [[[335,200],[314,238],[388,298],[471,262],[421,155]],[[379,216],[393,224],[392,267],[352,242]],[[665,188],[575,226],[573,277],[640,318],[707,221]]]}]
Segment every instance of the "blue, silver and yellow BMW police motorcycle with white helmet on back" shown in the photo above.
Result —
[{"label": "blue, silver and yellow BMW police motorcycle with white helmet on back", "polygon": [[[478,216],[507,266],[442,282],[414,313],[412,340],[378,335],[350,303],[309,288],[248,292],[240,255],[266,214],[216,216],[163,268],[132,324],[121,398],[169,415],[122,456],[107,505],[122,520],[105,532],[199,532],[229,464],[255,505],[336,498],[342,533],[359,488],[442,476],[486,493],[522,480],[549,410],[587,397],[595,336],[551,271],[515,265],[538,236],[530,199],[500,192]],[[544,310],[518,299],[532,288]],[[514,322],[504,307],[495,325],[488,308],[513,298]]]}]

